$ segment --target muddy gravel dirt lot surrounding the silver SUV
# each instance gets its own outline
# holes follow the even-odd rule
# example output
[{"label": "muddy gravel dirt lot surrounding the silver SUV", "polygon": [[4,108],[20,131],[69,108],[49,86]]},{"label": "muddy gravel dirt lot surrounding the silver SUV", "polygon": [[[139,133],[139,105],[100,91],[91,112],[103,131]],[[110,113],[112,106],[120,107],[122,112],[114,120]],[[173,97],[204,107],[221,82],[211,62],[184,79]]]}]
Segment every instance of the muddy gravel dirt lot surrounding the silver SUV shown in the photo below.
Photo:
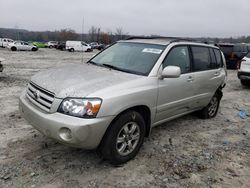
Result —
[{"label": "muddy gravel dirt lot surrounding the silver SUV", "polygon": [[250,111],[250,89],[233,70],[217,117],[188,115],[156,127],[137,157],[120,167],[95,151],[56,143],[20,117],[18,96],[33,74],[93,54],[0,49],[6,59],[0,73],[0,187],[250,187],[250,117],[238,115]]}]

